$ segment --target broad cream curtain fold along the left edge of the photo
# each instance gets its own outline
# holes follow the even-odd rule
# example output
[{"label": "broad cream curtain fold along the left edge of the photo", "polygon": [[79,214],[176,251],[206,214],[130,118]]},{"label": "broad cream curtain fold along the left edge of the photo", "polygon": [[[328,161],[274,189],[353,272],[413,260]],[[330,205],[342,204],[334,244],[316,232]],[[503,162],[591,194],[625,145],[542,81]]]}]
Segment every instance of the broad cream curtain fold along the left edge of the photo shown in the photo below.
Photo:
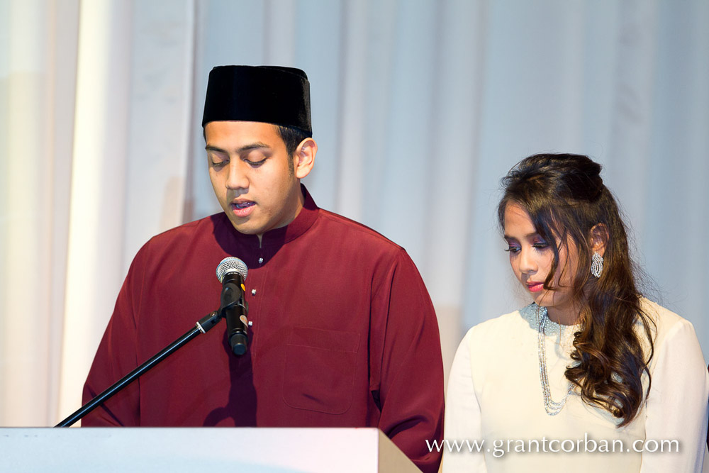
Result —
[{"label": "broad cream curtain fold along the left edge of the photo", "polygon": [[77,1],[0,4],[0,423],[57,415]]}]

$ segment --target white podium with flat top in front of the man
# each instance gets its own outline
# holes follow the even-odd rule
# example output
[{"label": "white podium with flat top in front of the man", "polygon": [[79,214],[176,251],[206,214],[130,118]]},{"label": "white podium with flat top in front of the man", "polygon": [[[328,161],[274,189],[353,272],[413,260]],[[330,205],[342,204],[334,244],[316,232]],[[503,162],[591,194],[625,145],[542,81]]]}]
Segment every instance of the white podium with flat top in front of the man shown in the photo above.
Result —
[{"label": "white podium with flat top in front of the man", "polygon": [[376,428],[0,428],[0,469],[420,473]]}]

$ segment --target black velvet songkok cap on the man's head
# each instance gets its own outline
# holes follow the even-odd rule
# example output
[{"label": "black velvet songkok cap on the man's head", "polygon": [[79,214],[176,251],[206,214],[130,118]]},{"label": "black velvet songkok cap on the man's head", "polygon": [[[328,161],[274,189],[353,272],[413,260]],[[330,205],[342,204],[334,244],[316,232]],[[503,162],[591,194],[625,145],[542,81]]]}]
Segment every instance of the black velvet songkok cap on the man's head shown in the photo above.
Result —
[{"label": "black velvet songkok cap on the man's head", "polygon": [[210,121],[262,121],[312,135],[308,76],[294,67],[214,67],[202,126]]}]

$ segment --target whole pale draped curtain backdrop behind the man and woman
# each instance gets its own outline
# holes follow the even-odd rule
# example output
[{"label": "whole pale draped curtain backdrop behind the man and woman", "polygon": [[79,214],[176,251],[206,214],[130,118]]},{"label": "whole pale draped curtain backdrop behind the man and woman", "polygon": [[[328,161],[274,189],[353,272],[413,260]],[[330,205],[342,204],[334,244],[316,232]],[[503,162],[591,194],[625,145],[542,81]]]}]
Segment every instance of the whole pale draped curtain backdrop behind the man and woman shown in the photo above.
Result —
[{"label": "whole pale draped curtain backdrop behind the man and woman", "polygon": [[0,0],[0,425],[79,408],[135,252],[219,211],[200,123],[224,64],[308,73],[305,183],[408,250],[446,370],[526,303],[495,207],[547,151],[604,165],[652,298],[709,355],[707,24],[705,0]]}]

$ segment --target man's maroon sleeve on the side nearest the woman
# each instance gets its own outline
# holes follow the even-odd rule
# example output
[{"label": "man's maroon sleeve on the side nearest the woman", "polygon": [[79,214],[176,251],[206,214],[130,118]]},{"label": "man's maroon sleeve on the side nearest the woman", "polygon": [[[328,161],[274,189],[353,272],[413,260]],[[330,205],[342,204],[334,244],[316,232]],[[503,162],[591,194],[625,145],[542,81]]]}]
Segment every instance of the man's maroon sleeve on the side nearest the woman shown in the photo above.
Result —
[{"label": "man's maroon sleeve on the side nearest the woman", "polygon": [[[435,473],[442,452],[443,363],[435,311],[418,270],[401,250],[375,289],[370,327],[370,389],[379,429],[423,472]],[[385,316],[381,316],[386,314]],[[383,336],[382,336],[383,334]]]}]

